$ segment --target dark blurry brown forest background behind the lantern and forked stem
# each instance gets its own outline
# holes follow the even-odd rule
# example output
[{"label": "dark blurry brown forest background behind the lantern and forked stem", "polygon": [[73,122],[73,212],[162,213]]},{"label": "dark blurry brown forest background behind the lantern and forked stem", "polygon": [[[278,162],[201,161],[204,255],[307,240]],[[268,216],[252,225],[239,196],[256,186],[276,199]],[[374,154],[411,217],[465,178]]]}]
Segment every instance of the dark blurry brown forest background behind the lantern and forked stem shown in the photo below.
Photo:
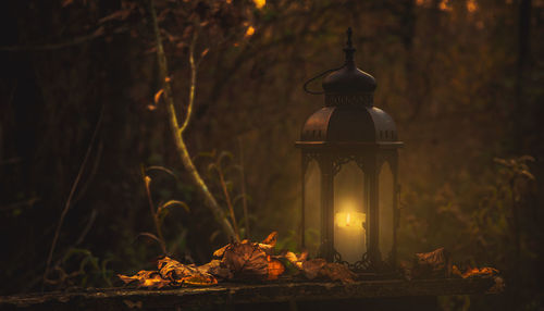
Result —
[{"label": "dark blurry brown forest background behind the lantern and forked stem", "polygon": [[[200,23],[197,54],[209,50],[185,138],[221,204],[210,163],[232,154],[225,174],[233,196],[243,178],[227,169],[244,167],[248,219],[239,201],[235,210],[249,237],[279,231],[280,246],[296,249],[294,141],[323,104],[301,85],[343,62],[351,26],[356,62],[378,82],[375,105],[395,119],[406,144],[401,257],[444,246],[460,265],[502,271],[505,294],[444,298],[444,310],[542,310],[544,1],[263,2],[156,1],[181,114],[188,42]],[[164,104],[153,101],[161,83],[146,1],[2,7],[0,294],[40,290],[77,176],[46,289],[119,285],[115,273],[153,265],[160,247],[138,237],[153,232],[143,166],[175,175],[149,171],[153,200],[190,209],[172,209],[164,220],[174,258],[209,261],[227,238],[181,165]]]}]

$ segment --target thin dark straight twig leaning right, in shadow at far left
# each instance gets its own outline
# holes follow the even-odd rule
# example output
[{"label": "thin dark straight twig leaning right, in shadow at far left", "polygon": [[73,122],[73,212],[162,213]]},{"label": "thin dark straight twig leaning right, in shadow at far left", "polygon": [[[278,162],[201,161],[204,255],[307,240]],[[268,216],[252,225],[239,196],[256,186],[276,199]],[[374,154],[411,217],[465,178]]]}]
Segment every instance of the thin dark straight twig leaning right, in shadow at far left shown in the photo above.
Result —
[{"label": "thin dark straight twig leaning right, in shadow at far left", "polygon": [[61,233],[61,227],[62,227],[62,224],[64,222],[64,217],[66,216],[67,211],[70,210],[72,198],[75,194],[77,185],[79,184],[79,179],[82,178],[83,172],[84,172],[85,166],[87,164],[87,160],[89,159],[90,151],[92,150],[92,146],[95,145],[95,140],[96,140],[97,135],[98,135],[98,130],[100,129],[100,125],[102,124],[103,111],[104,111],[104,105],[102,105],[102,108],[100,110],[100,115],[98,116],[97,125],[95,126],[95,132],[92,133],[92,137],[90,138],[89,146],[87,147],[87,152],[85,153],[85,158],[83,159],[82,165],[79,166],[79,172],[77,172],[74,184],[72,185],[72,189],[70,190],[70,195],[66,199],[66,203],[64,204],[64,209],[62,210],[61,217],[59,220],[59,224],[57,225],[57,229],[54,231],[53,242],[51,244],[51,248],[49,249],[49,254],[47,256],[46,271],[44,272],[44,278],[42,278],[44,283],[46,283],[47,276],[49,274],[49,265],[51,264],[51,260],[53,258],[54,248],[57,246],[57,241],[59,240],[59,235]]}]

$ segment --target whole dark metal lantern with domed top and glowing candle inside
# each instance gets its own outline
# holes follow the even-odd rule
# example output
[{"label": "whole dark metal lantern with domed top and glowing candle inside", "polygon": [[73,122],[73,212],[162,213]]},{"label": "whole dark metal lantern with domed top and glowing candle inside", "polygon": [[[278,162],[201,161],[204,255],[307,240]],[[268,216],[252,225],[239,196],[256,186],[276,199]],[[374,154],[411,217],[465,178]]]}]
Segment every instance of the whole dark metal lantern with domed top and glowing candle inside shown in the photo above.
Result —
[{"label": "whole dark metal lantern with domed top and glowing candle inside", "polygon": [[393,119],[373,105],[375,80],[357,69],[350,28],[347,35],[346,61],[323,79],[324,107],[307,119],[296,142],[302,156],[301,242],[329,262],[385,272],[396,260],[403,142]]}]

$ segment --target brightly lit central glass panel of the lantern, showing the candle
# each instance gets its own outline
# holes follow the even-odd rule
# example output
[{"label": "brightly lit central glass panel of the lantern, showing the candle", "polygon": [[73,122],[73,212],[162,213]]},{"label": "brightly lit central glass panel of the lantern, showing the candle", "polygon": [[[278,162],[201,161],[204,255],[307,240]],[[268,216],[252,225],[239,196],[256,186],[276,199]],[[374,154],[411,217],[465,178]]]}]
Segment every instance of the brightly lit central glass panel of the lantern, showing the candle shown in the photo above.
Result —
[{"label": "brightly lit central glass panel of the lantern, showing the candle", "polygon": [[355,263],[367,252],[364,174],[350,161],[334,178],[334,248]]}]

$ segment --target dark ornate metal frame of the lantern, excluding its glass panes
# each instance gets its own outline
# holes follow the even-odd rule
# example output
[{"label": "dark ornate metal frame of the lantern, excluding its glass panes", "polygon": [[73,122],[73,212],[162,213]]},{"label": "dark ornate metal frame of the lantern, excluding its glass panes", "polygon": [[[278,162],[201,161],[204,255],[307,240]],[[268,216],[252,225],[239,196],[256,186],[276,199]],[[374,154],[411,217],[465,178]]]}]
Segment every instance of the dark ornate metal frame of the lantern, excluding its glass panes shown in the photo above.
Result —
[{"label": "dark ornate metal frame of the lantern, excluding its glass panes", "polygon": [[[323,82],[325,105],[310,115],[296,147],[301,150],[301,244],[306,246],[306,174],[309,163],[318,163],[321,175],[321,238],[319,257],[329,262],[348,264],[361,272],[391,271],[396,264],[398,227],[398,148],[393,119],[373,107],[375,80],[355,66],[348,29],[346,63],[331,73]],[[329,71],[331,72],[331,71]],[[326,73],[326,72],[325,72]],[[305,85],[306,89],[306,85]],[[316,92],[312,92],[316,94]],[[367,213],[367,251],[359,261],[347,263],[334,246],[334,181],[343,165],[354,161],[364,175],[363,207]],[[382,254],[379,246],[379,185],[384,163],[388,163],[393,178],[393,246],[391,253]]]}]

